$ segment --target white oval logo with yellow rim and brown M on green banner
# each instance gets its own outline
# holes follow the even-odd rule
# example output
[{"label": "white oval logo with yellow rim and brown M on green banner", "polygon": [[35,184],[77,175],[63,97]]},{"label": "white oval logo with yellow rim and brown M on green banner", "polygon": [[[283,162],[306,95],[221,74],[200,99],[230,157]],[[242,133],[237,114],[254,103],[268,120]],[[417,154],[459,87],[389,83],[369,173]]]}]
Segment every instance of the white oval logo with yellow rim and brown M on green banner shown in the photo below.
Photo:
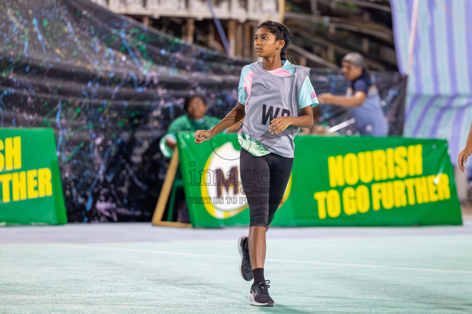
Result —
[{"label": "white oval logo with yellow rim and brown M on green banner", "polygon": [[[231,142],[214,149],[202,171],[201,193],[207,212],[215,218],[227,219],[248,208],[247,199],[241,185],[240,151]],[[220,156],[225,156],[222,158]],[[292,174],[288,181],[281,205],[287,201],[292,186]]]}]

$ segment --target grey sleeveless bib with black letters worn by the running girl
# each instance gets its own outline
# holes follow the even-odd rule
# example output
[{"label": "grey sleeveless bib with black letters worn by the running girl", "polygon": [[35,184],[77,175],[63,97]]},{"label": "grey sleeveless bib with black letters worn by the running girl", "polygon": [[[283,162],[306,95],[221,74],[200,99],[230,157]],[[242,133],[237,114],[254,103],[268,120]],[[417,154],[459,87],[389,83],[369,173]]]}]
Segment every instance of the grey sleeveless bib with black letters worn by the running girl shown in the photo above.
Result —
[{"label": "grey sleeveless bib with black letters worn by the running girl", "polygon": [[272,153],[293,158],[294,138],[299,128],[290,125],[278,134],[270,134],[269,125],[275,117],[298,116],[298,95],[310,69],[296,65],[292,75],[277,76],[264,70],[262,61],[252,65],[251,97],[246,105],[246,115],[241,130]]}]

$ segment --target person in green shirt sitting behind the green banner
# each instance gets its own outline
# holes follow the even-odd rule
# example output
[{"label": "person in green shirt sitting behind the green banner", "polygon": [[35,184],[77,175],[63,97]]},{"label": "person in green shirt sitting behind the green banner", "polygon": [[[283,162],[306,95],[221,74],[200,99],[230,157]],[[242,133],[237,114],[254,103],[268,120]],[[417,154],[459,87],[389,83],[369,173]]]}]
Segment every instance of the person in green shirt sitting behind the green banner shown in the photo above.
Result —
[{"label": "person in green shirt sitting behind the green banner", "polygon": [[[208,105],[201,95],[194,94],[185,100],[184,104],[185,114],[178,117],[169,125],[167,129],[166,145],[172,150],[177,145],[177,131],[197,131],[209,130],[218,124],[218,118],[206,115]],[[228,128],[223,133],[233,131],[233,127]],[[239,130],[239,128],[237,129]]]}]

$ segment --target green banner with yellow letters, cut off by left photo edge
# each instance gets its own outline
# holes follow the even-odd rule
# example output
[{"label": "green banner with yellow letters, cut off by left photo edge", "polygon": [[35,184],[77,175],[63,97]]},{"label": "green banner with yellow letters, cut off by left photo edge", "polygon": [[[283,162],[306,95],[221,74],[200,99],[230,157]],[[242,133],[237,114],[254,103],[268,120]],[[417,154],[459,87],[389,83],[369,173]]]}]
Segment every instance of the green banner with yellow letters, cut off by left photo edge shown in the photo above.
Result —
[{"label": "green banner with yellow letters, cut off by left photo edge", "polygon": [[0,223],[67,223],[52,129],[0,129],[0,184]]}]

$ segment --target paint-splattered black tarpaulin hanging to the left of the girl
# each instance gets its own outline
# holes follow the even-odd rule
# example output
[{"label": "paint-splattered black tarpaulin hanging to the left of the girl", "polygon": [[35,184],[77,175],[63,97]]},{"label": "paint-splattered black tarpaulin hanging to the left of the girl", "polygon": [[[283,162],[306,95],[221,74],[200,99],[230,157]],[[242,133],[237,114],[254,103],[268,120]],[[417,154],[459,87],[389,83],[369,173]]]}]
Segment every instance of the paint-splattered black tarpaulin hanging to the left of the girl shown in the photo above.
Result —
[{"label": "paint-splattered black tarpaulin hanging to the left of the girl", "polygon": [[69,221],[150,220],[158,140],[195,90],[232,107],[245,63],[84,0],[2,1],[2,127],[48,126]]}]

